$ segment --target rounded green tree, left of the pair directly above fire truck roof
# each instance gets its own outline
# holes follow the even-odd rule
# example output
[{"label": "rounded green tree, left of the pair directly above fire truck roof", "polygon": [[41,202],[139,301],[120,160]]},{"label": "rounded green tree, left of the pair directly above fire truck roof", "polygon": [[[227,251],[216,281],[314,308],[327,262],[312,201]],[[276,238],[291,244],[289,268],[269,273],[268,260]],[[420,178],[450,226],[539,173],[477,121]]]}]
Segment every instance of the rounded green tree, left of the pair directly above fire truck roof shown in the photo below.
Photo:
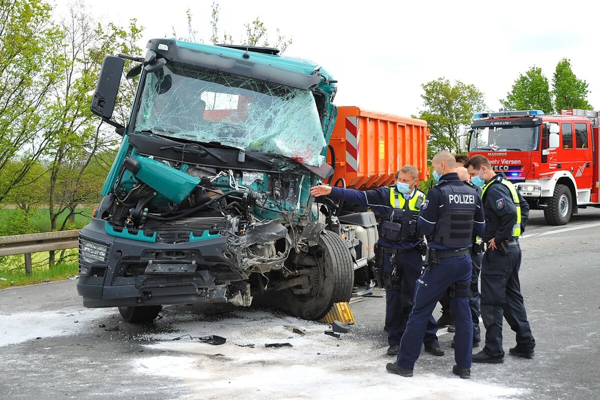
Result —
[{"label": "rounded green tree, left of the pair directly above fire truck roof", "polygon": [[542,110],[546,114],[554,112],[548,78],[542,75],[541,68],[535,66],[519,75],[500,103],[509,109]]}]

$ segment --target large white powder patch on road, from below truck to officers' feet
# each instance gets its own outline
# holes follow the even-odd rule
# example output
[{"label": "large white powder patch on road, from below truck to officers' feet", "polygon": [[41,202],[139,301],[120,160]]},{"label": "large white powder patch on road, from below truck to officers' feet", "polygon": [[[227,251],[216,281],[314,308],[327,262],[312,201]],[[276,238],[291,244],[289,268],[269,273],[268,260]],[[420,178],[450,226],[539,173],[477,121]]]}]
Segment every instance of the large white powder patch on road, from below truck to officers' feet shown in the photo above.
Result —
[{"label": "large white powder patch on road, from below truck to officers' feet", "polygon": [[[386,372],[385,364],[393,360],[383,355],[386,348],[361,342],[352,330],[336,339],[323,333],[327,324],[268,312],[235,314],[235,318],[212,322],[182,322],[178,324],[181,333],[154,336],[157,342],[146,345],[148,353],[169,356],[136,360],[135,371],[181,378],[189,392],[182,399],[500,400],[523,394],[521,389],[485,383],[476,372],[471,380],[455,377],[448,356],[439,360],[449,364],[446,376],[431,374],[418,362],[415,376],[403,378]],[[292,333],[292,326],[304,330],[305,335]],[[182,334],[194,339],[170,340]],[[209,334],[226,337],[226,344],[205,344],[197,339]],[[265,348],[265,343],[271,342],[289,342],[293,347]],[[238,344],[254,344],[254,348]]]}]

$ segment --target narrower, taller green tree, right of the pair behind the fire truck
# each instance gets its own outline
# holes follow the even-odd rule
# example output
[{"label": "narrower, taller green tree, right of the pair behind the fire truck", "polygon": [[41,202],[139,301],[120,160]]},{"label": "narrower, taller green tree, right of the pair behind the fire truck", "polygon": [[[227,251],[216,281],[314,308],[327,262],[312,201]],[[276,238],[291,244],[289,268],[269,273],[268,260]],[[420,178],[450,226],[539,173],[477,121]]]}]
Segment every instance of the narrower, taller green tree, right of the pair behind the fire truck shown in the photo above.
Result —
[{"label": "narrower, taller green tree, right of the pair behind the fire truck", "polygon": [[577,79],[571,70],[571,61],[563,58],[556,65],[556,71],[552,78],[552,93],[554,94],[554,109],[560,110],[581,109],[593,110],[590,103],[587,103],[586,97],[587,82]]}]

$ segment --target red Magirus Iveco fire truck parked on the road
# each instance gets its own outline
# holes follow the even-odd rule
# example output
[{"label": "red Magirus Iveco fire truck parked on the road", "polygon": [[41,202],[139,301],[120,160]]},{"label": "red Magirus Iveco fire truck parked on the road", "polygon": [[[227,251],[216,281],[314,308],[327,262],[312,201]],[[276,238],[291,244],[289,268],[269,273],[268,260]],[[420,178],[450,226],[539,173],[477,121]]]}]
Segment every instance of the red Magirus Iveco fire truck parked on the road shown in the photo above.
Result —
[{"label": "red Magirus Iveco fire truck parked on the road", "polygon": [[504,172],[548,224],[564,225],[579,208],[600,207],[598,115],[587,110],[500,110],[478,113],[470,130],[469,157],[482,154]]}]

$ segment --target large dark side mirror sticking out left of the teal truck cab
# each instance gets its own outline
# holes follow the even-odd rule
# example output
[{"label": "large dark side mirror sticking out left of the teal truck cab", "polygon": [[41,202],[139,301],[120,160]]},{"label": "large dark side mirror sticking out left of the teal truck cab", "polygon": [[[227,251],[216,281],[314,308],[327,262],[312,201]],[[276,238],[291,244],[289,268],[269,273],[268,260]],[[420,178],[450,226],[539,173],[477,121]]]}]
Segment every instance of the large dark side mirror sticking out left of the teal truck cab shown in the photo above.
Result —
[{"label": "large dark side mirror sticking out left of the teal truck cab", "polygon": [[121,125],[110,121],[110,118],[112,118],[113,110],[115,110],[115,101],[119,92],[119,83],[121,83],[124,65],[125,59],[121,57],[104,57],[100,77],[98,77],[96,90],[92,97],[92,113],[115,127]]}]

